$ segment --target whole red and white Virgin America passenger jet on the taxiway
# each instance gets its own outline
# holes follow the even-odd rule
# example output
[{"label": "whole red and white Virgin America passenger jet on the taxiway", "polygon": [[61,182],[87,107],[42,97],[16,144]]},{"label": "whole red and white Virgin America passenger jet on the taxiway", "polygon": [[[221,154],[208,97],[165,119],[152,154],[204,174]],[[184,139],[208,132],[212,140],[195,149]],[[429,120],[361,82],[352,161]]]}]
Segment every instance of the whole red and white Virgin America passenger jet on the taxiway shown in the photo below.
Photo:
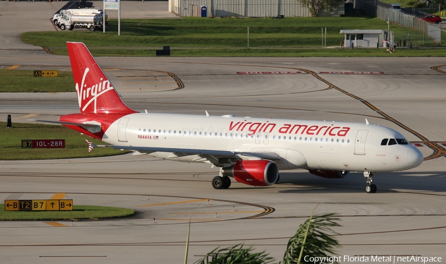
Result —
[{"label": "whole red and white Virgin America passenger jet on the taxiway", "polygon": [[366,192],[375,193],[376,172],[408,170],[423,161],[401,133],[368,122],[139,113],[124,104],[83,43],[67,47],[80,114],[53,123],[133,155],[213,164],[221,168],[212,180],[215,189],[229,188],[230,178],[271,186],[280,170],[306,169],[325,178],[363,172]]}]

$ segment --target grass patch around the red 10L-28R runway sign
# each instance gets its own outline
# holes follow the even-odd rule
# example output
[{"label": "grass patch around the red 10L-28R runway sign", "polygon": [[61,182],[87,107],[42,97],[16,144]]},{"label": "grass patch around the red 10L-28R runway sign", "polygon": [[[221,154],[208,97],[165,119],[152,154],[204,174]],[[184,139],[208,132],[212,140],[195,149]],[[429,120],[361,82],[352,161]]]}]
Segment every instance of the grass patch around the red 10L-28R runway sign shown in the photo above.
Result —
[{"label": "grass patch around the red 10L-28R runway sign", "polygon": [[[0,160],[66,159],[127,153],[105,147],[88,152],[85,139],[95,144],[105,143],[63,126],[12,123],[13,128],[5,127],[6,123],[0,122]],[[65,148],[21,148],[22,139],[65,139]]]}]

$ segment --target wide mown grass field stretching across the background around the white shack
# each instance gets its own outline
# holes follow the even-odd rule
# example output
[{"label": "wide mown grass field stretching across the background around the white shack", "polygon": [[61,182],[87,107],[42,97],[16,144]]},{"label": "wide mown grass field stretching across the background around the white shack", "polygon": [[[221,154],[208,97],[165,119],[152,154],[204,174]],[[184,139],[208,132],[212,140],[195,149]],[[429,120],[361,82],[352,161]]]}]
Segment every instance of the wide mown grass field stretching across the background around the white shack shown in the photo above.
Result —
[{"label": "wide mown grass field stretching across the background around the white shack", "polygon": [[[121,35],[118,36],[117,20],[112,19],[105,34],[90,31],[26,32],[21,35],[21,40],[37,46],[63,49],[66,48],[66,41],[79,41],[84,42],[89,48],[116,47],[114,50],[97,53],[96,56],[98,54],[135,56],[139,51],[125,51],[121,47],[244,48],[247,46],[248,26],[250,47],[292,48],[321,47],[322,28],[324,31],[327,28],[327,46],[335,47],[340,45],[343,37],[339,34],[340,29],[387,29],[386,21],[369,17],[286,17],[284,19],[185,17],[183,19],[121,19]],[[441,46],[426,35],[423,41],[423,34],[412,29],[391,24],[390,30],[394,32],[396,41],[406,39],[409,33],[413,46]],[[444,42],[446,42],[446,37]],[[52,51],[57,54],[62,53],[56,49]],[[178,56],[200,56],[199,53],[193,51],[188,53]],[[209,54],[212,53],[214,52],[209,52]],[[269,51],[257,53],[260,53],[260,56],[268,56]],[[281,56],[288,56],[292,52],[286,53],[282,53]],[[232,56],[221,51],[219,54],[218,56]],[[145,55],[147,53],[139,56]]]}]

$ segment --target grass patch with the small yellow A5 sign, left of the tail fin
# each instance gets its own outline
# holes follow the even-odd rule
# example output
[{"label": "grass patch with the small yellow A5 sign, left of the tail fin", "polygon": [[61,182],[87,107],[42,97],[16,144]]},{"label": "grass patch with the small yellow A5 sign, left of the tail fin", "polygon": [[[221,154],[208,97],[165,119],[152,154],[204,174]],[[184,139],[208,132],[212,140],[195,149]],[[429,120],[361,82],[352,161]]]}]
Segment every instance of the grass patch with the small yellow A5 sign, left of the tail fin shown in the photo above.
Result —
[{"label": "grass patch with the small yellow A5 sign, left of the tail fin", "polygon": [[34,77],[33,70],[0,69],[0,92],[72,92],[71,71],[58,71],[57,77]]}]

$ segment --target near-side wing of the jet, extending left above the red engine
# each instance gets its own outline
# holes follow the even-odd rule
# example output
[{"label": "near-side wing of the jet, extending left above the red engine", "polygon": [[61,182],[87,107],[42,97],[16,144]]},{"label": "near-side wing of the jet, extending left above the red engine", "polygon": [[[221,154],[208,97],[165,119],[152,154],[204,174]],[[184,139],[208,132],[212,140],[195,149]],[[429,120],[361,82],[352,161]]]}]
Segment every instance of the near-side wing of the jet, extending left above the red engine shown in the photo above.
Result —
[{"label": "near-side wing of the jet, extending left above the red engine", "polygon": [[[168,148],[168,147],[141,147],[141,146],[116,146],[116,145],[97,145],[98,147],[111,147],[114,149],[126,149],[138,151],[140,154],[153,152],[167,152],[172,154],[214,156],[214,157],[233,157],[245,160],[252,159],[268,159],[279,160],[280,157],[274,152],[254,152],[254,151],[232,151],[232,150],[210,150],[210,149],[193,149],[193,148]],[[177,155],[178,156],[178,155]]]}]

